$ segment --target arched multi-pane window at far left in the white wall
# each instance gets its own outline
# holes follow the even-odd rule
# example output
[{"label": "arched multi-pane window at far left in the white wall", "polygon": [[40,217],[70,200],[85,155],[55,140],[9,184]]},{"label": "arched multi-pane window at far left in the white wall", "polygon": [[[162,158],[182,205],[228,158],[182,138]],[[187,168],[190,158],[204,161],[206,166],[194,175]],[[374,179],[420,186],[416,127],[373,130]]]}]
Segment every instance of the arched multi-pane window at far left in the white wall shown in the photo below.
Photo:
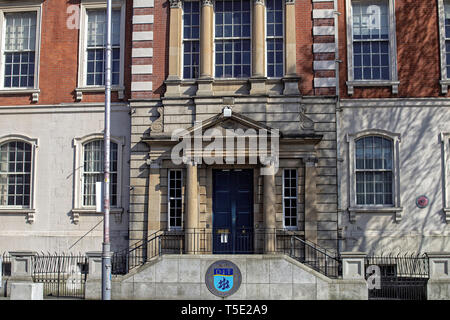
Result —
[{"label": "arched multi-pane window at far left in the white wall", "polygon": [[0,206],[30,208],[32,145],[8,141],[0,145]]}]

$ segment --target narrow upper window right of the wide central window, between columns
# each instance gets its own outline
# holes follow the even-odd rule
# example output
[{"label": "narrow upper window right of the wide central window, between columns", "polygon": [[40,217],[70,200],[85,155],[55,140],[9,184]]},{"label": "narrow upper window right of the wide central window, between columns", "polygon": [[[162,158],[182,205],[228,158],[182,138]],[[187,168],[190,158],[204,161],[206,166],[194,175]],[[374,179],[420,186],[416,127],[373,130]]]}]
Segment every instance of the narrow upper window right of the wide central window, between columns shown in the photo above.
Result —
[{"label": "narrow upper window right of the wide central window, between columns", "polygon": [[267,76],[283,76],[283,1],[266,1]]}]

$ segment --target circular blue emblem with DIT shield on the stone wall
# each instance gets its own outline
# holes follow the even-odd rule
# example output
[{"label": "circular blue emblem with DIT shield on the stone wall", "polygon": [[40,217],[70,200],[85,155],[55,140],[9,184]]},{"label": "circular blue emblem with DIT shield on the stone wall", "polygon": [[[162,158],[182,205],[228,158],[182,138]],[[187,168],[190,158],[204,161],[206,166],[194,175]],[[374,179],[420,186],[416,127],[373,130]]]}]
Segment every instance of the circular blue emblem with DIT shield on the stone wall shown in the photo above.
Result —
[{"label": "circular blue emblem with DIT shield on the stone wall", "polygon": [[228,260],[216,261],[206,271],[206,286],[218,297],[231,296],[239,289],[241,282],[241,271],[237,265]]}]

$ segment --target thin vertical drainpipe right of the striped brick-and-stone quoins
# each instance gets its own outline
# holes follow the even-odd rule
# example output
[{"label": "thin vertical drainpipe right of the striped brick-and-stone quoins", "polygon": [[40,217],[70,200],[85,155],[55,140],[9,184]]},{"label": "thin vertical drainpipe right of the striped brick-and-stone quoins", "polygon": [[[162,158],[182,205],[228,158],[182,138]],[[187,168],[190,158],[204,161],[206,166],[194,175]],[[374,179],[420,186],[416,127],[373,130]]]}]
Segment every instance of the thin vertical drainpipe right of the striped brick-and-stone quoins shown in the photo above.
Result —
[{"label": "thin vertical drainpipe right of the striped brick-and-stone quoins", "polygon": [[342,219],[341,209],[341,174],[339,170],[340,159],[340,112],[341,112],[341,92],[339,86],[339,16],[341,13],[338,8],[338,0],[334,0],[334,44],[335,44],[335,72],[336,72],[336,180],[337,180],[337,253],[341,255],[341,236],[342,232],[339,230]]}]

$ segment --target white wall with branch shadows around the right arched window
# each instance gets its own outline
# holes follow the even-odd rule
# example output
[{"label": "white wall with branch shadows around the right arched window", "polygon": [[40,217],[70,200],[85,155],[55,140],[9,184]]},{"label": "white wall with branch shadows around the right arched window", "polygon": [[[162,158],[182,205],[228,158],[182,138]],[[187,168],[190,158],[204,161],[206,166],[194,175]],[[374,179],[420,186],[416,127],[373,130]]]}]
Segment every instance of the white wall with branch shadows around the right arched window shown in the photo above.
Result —
[{"label": "white wall with branch shadows around the right arched window", "polygon": [[[445,195],[442,194],[444,173],[439,133],[445,130],[445,123],[450,123],[450,114],[443,111],[442,107],[432,107],[431,104],[421,107],[361,108],[352,111],[351,122],[358,123],[361,130],[376,128],[401,134],[399,177],[403,212],[400,222],[395,221],[394,214],[357,214],[355,224],[349,224],[347,220],[345,224],[352,230],[376,234],[370,238],[367,234],[359,237],[349,236],[346,239],[346,247],[349,250],[369,251],[369,253],[379,250],[386,252],[449,250],[448,237],[441,234],[447,225],[442,210]],[[439,127],[440,123],[442,125]],[[348,162],[345,168],[348,168]],[[348,190],[349,177],[345,179]],[[426,208],[419,209],[415,201],[424,193],[430,199],[430,204]],[[350,195],[347,196],[346,200],[350,203]],[[401,236],[395,236],[398,232]],[[430,232],[436,237],[429,235]],[[379,234],[389,236],[391,233],[392,237],[379,236]],[[416,234],[416,239],[413,239],[411,233]],[[404,235],[408,238],[404,238]]]}]

